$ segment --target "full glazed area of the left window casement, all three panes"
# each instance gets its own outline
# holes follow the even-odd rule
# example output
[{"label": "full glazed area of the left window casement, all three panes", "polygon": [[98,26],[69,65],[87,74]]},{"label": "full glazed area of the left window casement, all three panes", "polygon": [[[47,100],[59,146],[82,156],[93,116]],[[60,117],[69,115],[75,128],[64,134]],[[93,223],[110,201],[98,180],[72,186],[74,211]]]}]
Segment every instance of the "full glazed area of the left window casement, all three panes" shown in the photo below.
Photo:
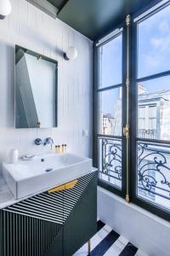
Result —
[{"label": "full glazed area of the left window casement, all three panes", "polygon": [[98,47],[99,179],[122,189],[122,32]]}]

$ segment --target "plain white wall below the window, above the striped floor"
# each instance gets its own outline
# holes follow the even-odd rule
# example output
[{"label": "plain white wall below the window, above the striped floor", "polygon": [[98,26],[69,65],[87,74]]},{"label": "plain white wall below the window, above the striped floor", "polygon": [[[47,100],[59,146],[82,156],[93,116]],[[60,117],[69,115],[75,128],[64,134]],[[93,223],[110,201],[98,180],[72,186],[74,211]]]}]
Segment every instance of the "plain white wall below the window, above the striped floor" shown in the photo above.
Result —
[{"label": "plain white wall below the window, above the striped floor", "polygon": [[98,217],[147,255],[170,255],[169,222],[100,187]]}]

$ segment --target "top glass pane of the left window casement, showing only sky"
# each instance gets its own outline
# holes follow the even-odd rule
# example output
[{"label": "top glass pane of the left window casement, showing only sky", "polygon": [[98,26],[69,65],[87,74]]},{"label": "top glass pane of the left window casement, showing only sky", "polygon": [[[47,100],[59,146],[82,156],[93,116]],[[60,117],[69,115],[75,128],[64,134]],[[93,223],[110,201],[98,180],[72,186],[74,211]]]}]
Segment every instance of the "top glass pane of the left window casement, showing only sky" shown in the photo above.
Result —
[{"label": "top glass pane of the left window casement, showing only sky", "polygon": [[122,34],[99,47],[99,88],[122,84]]}]

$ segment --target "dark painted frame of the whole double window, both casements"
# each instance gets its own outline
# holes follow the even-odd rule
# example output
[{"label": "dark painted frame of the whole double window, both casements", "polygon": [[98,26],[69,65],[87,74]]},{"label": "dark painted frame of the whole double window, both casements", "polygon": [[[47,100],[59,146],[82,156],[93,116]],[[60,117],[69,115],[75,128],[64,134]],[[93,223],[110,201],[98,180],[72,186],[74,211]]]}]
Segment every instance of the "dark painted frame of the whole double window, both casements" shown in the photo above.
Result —
[{"label": "dark painted frame of the whole double window, both casements", "polygon": [[[129,114],[130,114],[130,151],[129,151],[129,170],[130,170],[130,181],[129,181],[129,189],[130,189],[130,201],[134,204],[138,205],[139,207],[142,207],[146,209],[147,211],[156,214],[157,216],[161,218],[165,218],[166,220],[170,221],[170,212],[166,211],[166,209],[162,209],[161,207],[158,207],[156,205],[151,204],[151,202],[146,202],[139,198],[136,195],[136,160],[137,160],[137,154],[136,154],[136,119],[133,119],[133,116],[136,116],[137,111],[137,82],[144,81],[147,79],[155,79],[162,76],[166,76],[167,74],[170,74],[170,71],[166,73],[158,73],[156,75],[151,75],[150,77],[142,78],[142,79],[136,79],[137,77],[137,23],[133,22],[133,19],[138,17],[139,15],[143,14],[145,11],[153,7],[156,3],[159,3],[160,1],[153,1],[153,3],[150,3],[146,8],[139,10],[138,13],[135,13],[131,15],[131,24],[130,24],[130,95],[129,95]],[[157,11],[159,11],[164,5],[167,5],[167,3],[163,4],[160,8],[154,10],[150,13],[150,15],[155,14]],[[145,15],[143,19],[146,19],[149,15]],[[114,31],[116,28],[123,28],[122,32],[122,97],[126,99],[126,56],[127,56],[127,49],[126,49],[126,41],[127,41],[127,27],[126,22],[122,22],[120,26],[113,27]],[[99,67],[99,60],[98,60],[98,47],[96,47],[96,43],[98,41],[94,42],[94,166],[98,167],[98,137],[100,136],[98,134],[98,124],[99,124],[99,116],[98,116],[98,108],[99,108],[99,101],[98,101],[98,67]],[[125,57],[124,57],[125,56]],[[124,63],[124,64],[123,64]],[[123,102],[122,110],[125,110],[126,106],[126,100]],[[134,107],[135,106],[135,107]],[[122,127],[126,125],[126,117],[125,117],[125,111],[122,111]],[[105,137],[105,136],[103,136]],[[153,140],[156,142],[155,140]],[[125,147],[126,139],[122,136],[122,148]],[[162,143],[162,141],[160,141]],[[165,141],[163,141],[165,143]],[[168,143],[168,142],[167,142]],[[169,142],[170,144],[170,142]],[[107,189],[116,195],[120,195],[123,198],[126,196],[126,152],[125,149],[122,149],[122,191],[119,189],[114,188],[113,186],[109,185],[108,183],[103,182],[99,179],[99,186]],[[133,185],[135,184],[135,185]]]}]

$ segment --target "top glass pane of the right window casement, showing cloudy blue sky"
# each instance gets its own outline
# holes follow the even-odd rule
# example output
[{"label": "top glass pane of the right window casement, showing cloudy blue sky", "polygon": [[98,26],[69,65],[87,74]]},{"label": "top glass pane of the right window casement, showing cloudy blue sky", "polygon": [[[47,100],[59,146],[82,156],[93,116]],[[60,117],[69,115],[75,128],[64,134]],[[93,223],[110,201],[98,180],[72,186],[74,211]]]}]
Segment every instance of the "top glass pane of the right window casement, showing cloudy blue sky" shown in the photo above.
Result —
[{"label": "top glass pane of the right window casement, showing cloudy blue sky", "polygon": [[138,77],[170,70],[170,5],[138,25]]}]

